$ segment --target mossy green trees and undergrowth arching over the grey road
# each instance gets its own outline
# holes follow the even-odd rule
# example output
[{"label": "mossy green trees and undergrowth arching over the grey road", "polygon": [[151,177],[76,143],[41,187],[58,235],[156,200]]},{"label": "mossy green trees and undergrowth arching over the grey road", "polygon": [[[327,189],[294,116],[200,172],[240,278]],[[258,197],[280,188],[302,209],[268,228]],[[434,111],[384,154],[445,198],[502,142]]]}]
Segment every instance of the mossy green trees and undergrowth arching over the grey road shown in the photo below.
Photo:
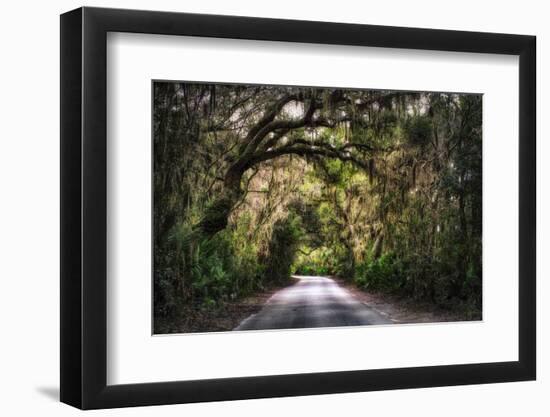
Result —
[{"label": "mossy green trees and undergrowth arching over the grey road", "polygon": [[481,311],[481,96],[155,82],[155,314],[292,272]]}]

